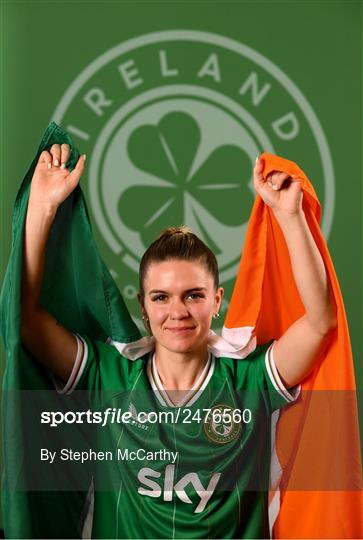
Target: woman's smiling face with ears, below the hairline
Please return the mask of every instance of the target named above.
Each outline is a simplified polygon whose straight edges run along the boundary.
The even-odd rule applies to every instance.
[[[144,291],[144,302],[140,296],[139,301],[158,346],[191,352],[206,345],[224,291],[222,287],[215,291],[203,264],[183,259],[152,263]]]

